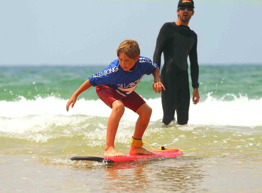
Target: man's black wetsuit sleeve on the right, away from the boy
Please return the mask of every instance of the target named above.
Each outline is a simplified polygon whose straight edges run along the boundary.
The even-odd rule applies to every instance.
[[[198,88],[198,76],[199,76],[199,66],[198,66],[198,61],[197,61],[197,36],[194,33],[194,45],[192,49],[189,52],[189,60],[190,60],[190,74],[191,74],[191,80],[192,80],[192,87],[193,88]]]

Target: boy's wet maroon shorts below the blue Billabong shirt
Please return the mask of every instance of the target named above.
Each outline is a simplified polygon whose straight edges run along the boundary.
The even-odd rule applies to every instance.
[[[115,100],[121,100],[124,103],[125,107],[136,112],[137,109],[145,103],[143,98],[141,98],[134,91],[126,97],[120,97],[113,88],[110,88],[106,85],[96,86],[96,93],[99,96],[99,98],[110,108]]]

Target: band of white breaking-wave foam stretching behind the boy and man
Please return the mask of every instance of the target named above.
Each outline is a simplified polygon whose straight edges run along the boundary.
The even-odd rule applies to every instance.
[[[163,116],[161,98],[145,99],[145,101],[153,110],[150,121],[161,119]],[[0,101],[0,117],[2,117],[0,119],[0,131],[14,132],[14,128],[22,130],[34,127],[37,132],[42,130],[41,127],[51,126],[52,124],[57,126],[70,123],[77,124],[79,120],[75,120],[76,118],[71,115],[108,117],[111,113],[111,109],[101,100],[79,98],[74,108],[69,107],[68,112],[65,107],[66,103],[67,100],[54,96],[38,97],[36,100],[26,100],[26,98],[21,97],[19,101]],[[233,101],[223,101],[208,96],[205,101],[201,101],[197,105],[190,104],[188,124],[261,126],[262,113],[260,109],[262,109],[262,98],[249,100],[247,97],[241,96],[235,97]],[[31,117],[30,115],[34,116]],[[137,118],[136,113],[126,108],[122,120],[136,121]],[[15,132],[19,133],[19,131]]]

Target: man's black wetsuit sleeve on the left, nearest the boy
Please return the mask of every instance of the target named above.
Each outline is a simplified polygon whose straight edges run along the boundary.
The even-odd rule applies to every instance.
[[[159,35],[156,40],[156,49],[153,56],[153,61],[159,66],[159,69],[161,66],[161,54],[164,50],[166,41],[168,40],[169,31],[170,28],[168,26],[168,23],[165,23],[160,29]]]

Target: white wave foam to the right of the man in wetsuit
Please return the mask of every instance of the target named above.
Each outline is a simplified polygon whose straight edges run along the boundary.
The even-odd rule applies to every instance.
[[[249,100],[246,96],[233,101],[214,99],[211,96],[197,105],[190,105],[189,124],[261,126],[262,98]]]

